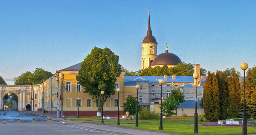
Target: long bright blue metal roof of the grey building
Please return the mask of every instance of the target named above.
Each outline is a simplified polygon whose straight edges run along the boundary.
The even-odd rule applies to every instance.
[[[144,80],[149,81],[150,83],[158,83],[158,79],[164,79],[164,76],[124,76],[124,82],[136,81],[138,78],[140,78],[140,81]],[[166,80],[164,79],[164,82],[193,83],[194,78],[193,76],[176,76],[172,79],[172,76],[167,76]],[[205,79],[201,82],[204,83]]]

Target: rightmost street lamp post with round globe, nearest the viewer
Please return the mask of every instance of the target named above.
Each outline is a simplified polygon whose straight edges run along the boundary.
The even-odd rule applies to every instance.
[[[242,135],[247,135],[247,115],[246,115],[246,102],[245,102],[245,70],[248,68],[247,63],[240,65],[241,69],[244,70],[244,113],[243,113],[243,132]]]

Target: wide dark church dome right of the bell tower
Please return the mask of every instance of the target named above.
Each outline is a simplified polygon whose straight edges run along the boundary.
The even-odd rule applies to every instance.
[[[165,53],[159,54],[154,59],[152,66],[160,66],[160,65],[177,65],[181,60],[175,54],[169,53],[166,47]]]

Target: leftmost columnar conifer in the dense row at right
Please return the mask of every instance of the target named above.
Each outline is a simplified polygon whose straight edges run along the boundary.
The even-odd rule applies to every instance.
[[[204,117],[209,121],[217,121],[220,117],[220,92],[218,79],[214,73],[208,71],[204,84]]]

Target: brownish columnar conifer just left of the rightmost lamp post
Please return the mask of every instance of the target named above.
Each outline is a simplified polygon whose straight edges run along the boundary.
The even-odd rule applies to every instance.
[[[225,72],[224,72],[225,73]],[[241,107],[241,87],[235,71],[228,77],[227,118],[237,118]]]

